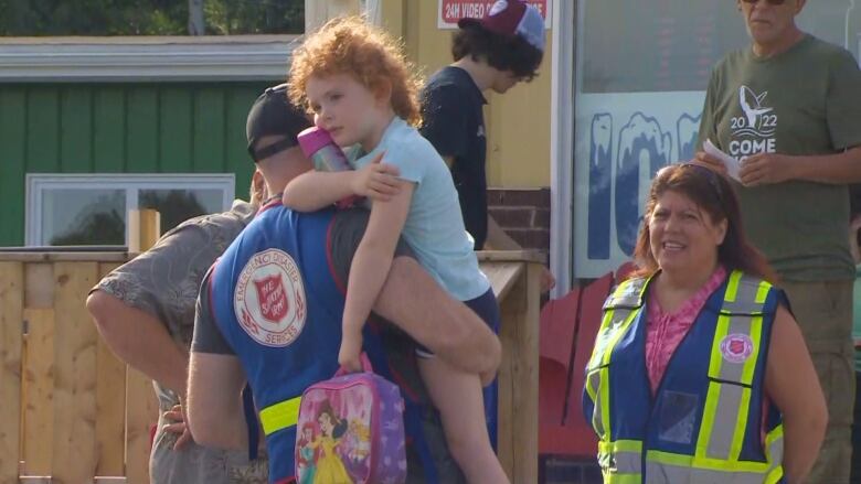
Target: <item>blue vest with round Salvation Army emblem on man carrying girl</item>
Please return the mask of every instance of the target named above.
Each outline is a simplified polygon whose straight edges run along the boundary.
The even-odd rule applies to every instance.
[[[259,410],[270,482],[294,475],[299,397],[338,369],[344,292],[329,260],[333,214],[265,207],[227,248],[210,279],[212,314],[242,362]],[[410,475],[418,474],[418,464],[425,482],[440,482],[442,475],[457,471],[437,467],[446,463],[437,460],[442,434],[425,438],[431,410],[410,386],[412,379],[391,367],[383,332],[366,324],[363,349],[374,372],[402,389]]]

